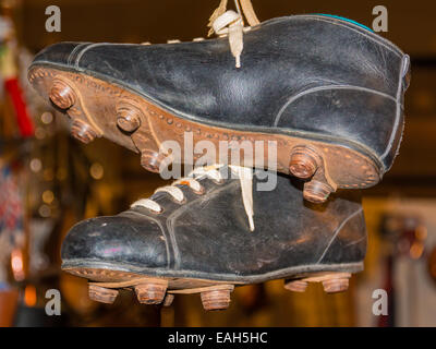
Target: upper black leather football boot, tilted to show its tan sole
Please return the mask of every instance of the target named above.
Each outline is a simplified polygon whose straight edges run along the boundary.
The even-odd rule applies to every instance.
[[[219,34],[234,32],[233,24],[222,29],[226,23]],[[409,57],[328,15],[278,17],[241,35],[240,68],[227,37],[61,43],[35,57],[28,79],[72,118],[76,137],[106,136],[141,152],[149,170],[165,156],[159,144],[174,140],[183,152],[184,132],[192,132],[194,144],[209,140],[217,148],[219,141],[277,142],[272,167],[312,178],[305,196],[313,202],[338,188],[376,184],[400,145]]]

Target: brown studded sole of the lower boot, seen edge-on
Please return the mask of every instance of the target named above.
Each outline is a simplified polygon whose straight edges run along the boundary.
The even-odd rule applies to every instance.
[[[72,266],[69,264],[81,266]],[[86,266],[85,266],[86,265]],[[123,266],[128,269],[128,266]],[[130,267],[134,269],[135,267]],[[193,277],[191,273],[168,270],[128,272],[106,263],[64,263],[62,269],[89,280],[89,298],[102,303],[113,303],[120,289],[132,290],[142,304],[171,305],[175,294],[199,293],[203,308],[207,311],[226,310],[230,305],[231,292],[235,286],[284,278],[284,288],[304,292],[310,282],[322,282],[327,293],[347,291],[353,273],[363,269],[363,262],[338,265],[308,265],[292,267],[277,273],[255,277],[231,277],[206,279]],[[160,274],[160,275],[159,275]],[[172,275],[171,275],[172,274]],[[186,277],[180,274],[185,274]],[[165,275],[165,276],[164,276]],[[214,276],[210,276],[214,278]]]

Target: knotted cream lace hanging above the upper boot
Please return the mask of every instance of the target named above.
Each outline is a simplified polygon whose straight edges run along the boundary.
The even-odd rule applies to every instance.
[[[211,33],[218,36],[228,36],[230,51],[235,59],[235,67],[241,68],[241,55],[244,49],[243,33],[251,29],[251,26],[259,24],[254,13],[251,0],[234,0],[238,13],[234,11],[226,11],[228,0],[221,0],[219,7],[214,11],[209,19],[208,26]],[[241,13],[244,13],[250,26],[244,27],[244,21]]]

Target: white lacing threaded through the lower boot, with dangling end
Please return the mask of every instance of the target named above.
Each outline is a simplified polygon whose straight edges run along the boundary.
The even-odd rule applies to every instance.
[[[177,184],[189,185],[194,192],[202,193],[203,186],[198,182],[202,178],[210,178],[217,182],[222,181],[223,178],[219,172],[219,168],[222,165],[214,165],[210,167],[198,167],[195,168],[186,178],[177,180],[171,185],[166,185],[158,188],[155,193],[165,192],[171,195],[178,203],[182,204],[184,202],[183,191],[175,186]],[[242,202],[244,204],[245,214],[249,218],[250,230],[254,231],[254,210],[253,210],[253,170],[246,167],[229,165],[229,168],[233,173],[235,173],[241,183],[241,194]],[[134,202],[131,207],[145,207],[153,212],[160,213],[162,207],[152,198],[141,198]]]

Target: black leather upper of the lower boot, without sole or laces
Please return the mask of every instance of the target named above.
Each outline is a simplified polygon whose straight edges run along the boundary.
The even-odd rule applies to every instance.
[[[274,191],[257,191],[255,176],[251,232],[240,181],[199,181],[203,195],[180,186],[183,204],[167,193],[155,194],[161,214],[137,207],[77,224],[62,244],[64,266],[102,262],[238,279],[305,265],[359,263],[365,256],[366,229],[356,191],[339,191],[326,204],[312,205],[288,177],[278,174]]]

